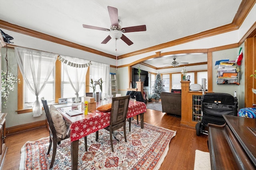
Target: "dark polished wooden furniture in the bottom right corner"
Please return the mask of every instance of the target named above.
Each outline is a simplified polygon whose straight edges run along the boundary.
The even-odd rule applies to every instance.
[[[212,170],[256,169],[256,119],[223,115],[225,125],[209,124]]]

